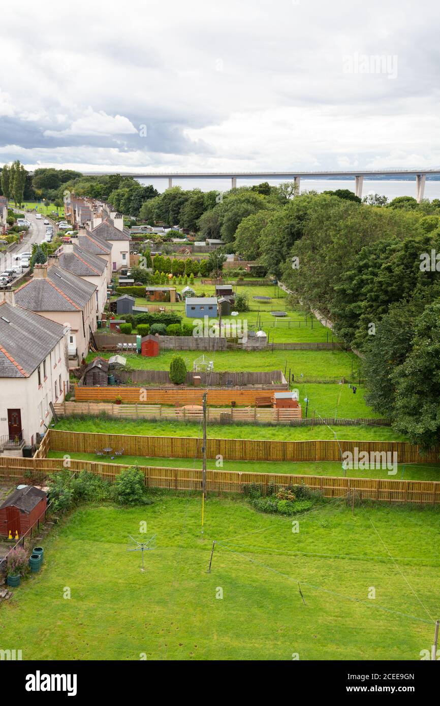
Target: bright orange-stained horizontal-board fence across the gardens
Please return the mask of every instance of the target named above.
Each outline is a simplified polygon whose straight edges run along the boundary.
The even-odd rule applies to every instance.
[[[241,405],[254,407],[258,397],[267,397],[271,400],[273,390],[264,388],[232,388],[224,390],[213,388],[208,390],[207,402],[213,407]],[[283,388],[280,387],[280,390]],[[201,405],[203,402],[203,388],[142,388],[121,385],[109,387],[86,387],[75,384],[74,394],[76,402],[114,402],[121,397],[122,402],[144,405]]]

